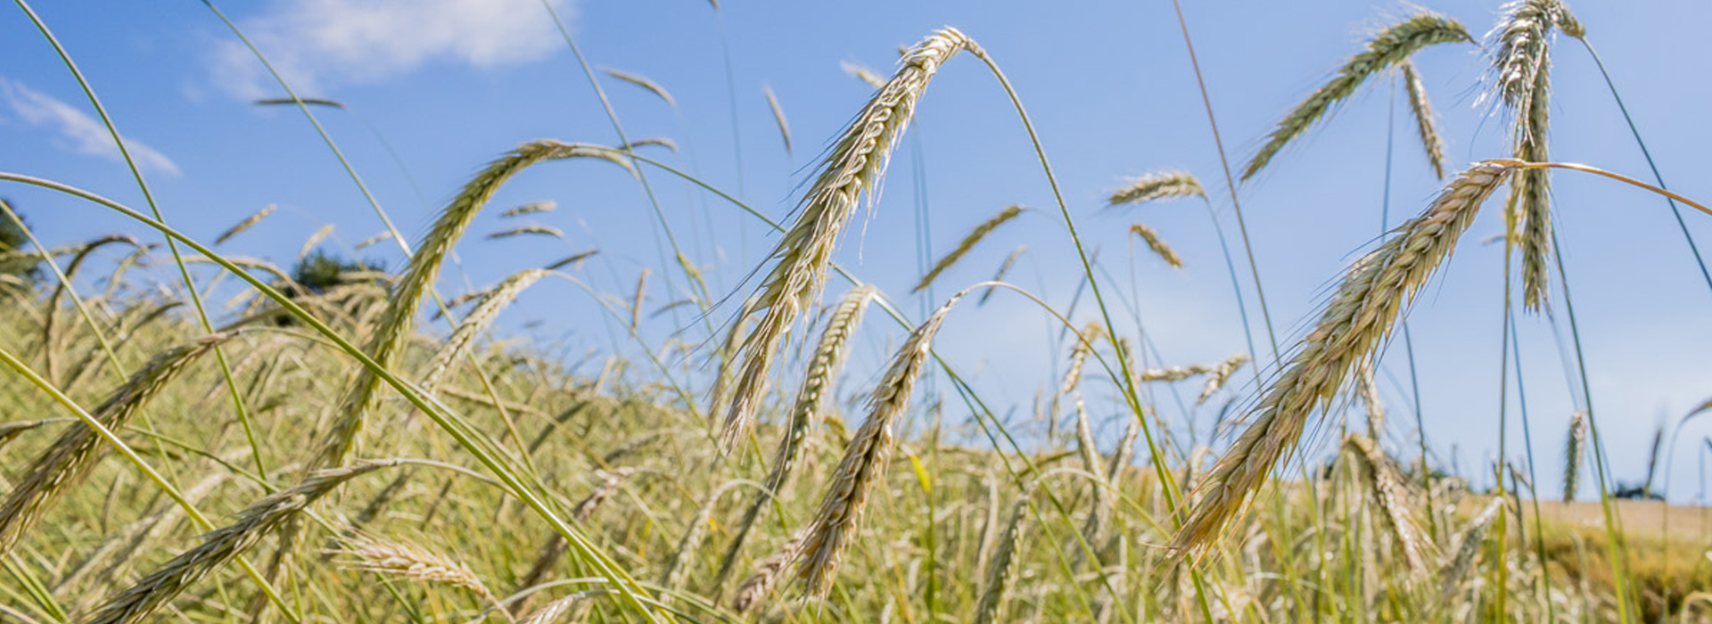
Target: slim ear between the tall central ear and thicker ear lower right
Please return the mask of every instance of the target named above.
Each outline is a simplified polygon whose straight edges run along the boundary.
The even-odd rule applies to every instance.
[[[798,458],[803,455],[803,441],[808,438],[808,426],[811,424],[815,414],[820,412],[827,397],[832,395],[832,383],[844,368],[844,359],[849,356],[849,340],[861,327],[863,311],[868,309],[868,303],[873,301],[880,291],[871,286],[858,286],[844,294],[839,306],[832,309],[832,316],[827,320],[827,327],[820,332],[820,342],[815,345],[815,356],[808,361],[808,371],[803,374],[803,385],[796,388],[796,400],[791,402],[789,419],[786,421],[784,436],[779,439],[779,448],[772,455],[772,472],[767,474],[765,487],[767,492],[750,503],[748,511],[743,513],[743,520],[738,521],[736,537],[726,549],[724,561],[719,564],[719,578],[724,578],[726,571],[736,561],[738,552],[743,549],[743,542],[748,537],[750,528],[760,518],[762,511],[767,509],[767,503],[777,497],[784,486],[791,479],[791,470],[796,467]]]

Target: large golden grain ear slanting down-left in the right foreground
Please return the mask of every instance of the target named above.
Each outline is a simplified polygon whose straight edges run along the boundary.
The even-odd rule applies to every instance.
[[[1219,458],[1174,544],[1209,544],[1267,474],[1296,446],[1308,417],[1323,409],[1351,371],[1390,335],[1402,309],[1455,250],[1481,203],[1510,166],[1477,162],[1457,174],[1419,217],[1351,267],[1313,332],[1251,409],[1251,424]]]

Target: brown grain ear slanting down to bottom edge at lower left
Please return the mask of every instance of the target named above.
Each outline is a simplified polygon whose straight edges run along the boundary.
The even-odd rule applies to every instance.
[[[180,592],[195,585],[211,571],[238,557],[269,533],[279,530],[312,503],[351,479],[368,472],[399,465],[397,460],[363,460],[341,468],[308,474],[296,487],[267,496],[238,511],[235,520],[202,535],[202,544],[173,557],[139,580],[130,588],[113,595],[101,607],[80,619],[82,624],[130,624],[149,617]]]

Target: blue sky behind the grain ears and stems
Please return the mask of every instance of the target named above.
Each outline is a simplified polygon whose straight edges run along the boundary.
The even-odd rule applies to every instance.
[[[1169,2],[729,0],[719,14],[695,0],[558,0],[556,7],[592,65],[647,75],[675,96],[671,108],[603,77],[632,138],[671,137],[683,147],[681,156],[657,149],[651,154],[776,217],[794,205],[796,185],[818,149],[870,94],[841,63],[885,74],[897,46],[938,26],[957,26],[981,41],[1020,91],[1085,243],[1101,251],[1115,279],[1108,289],[1138,299],[1164,362],[1210,362],[1246,349],[1202,205],[1101,209],[1103,197],[1126,176],[1183,169],[1207,183],[1226,233],[1236,231]],[[294,260],[324,224],[336,227],[324,243],[330,250],[348,250],[382,231],[298,111],[248,104],[281,96],[281,89],[202,3],[36,9],[128,137],[171,224],[211,241],[257,209],[277,203],[277,214],[223,251],[281,265]],[[349,111],[320,109],[318,118],[413,239],[476,168],[519,142],[616,144],[599,101],[538,2],[272,0],[221,9],[303,96],[349,104]],[[1498,14],[1495,2],[1435,2],[1430,9],[1476,34]],[[1712,125],[1705,123],[1712,85],[1697,79],[1712,70],[1712,56],[1697,44],[1712,5],[1582,2],[1572,9],[1601,48],[1664,178],[1688,197],[1712,198],[1712,181],[1698,174],[1703,145],[1712,144]],[[1190,2],[1185,10],[1233,166],[1364,34],[1406,14],[1406,7],[1373,2]],[[734,92],[728,91],[721,32],[729,44]],[[1554,157],[1644,176],[1645,162],[1589,55],[1577,41],[1560,38],[1553,62]],[[1436,46],[1421,53],[1418,65],[1452,166],[1503,156],[1503,120],[1479,104],[1484,56],[1474,46]],[[794,154],[782,147],[764,85],[774,89],[789,118]],[[1436,190],[1394,91],[1388,79],[1375,80],[1257,180],[1238,186],[1267,303],[1286,344],[1306,332],[1315,304],[1342,267],[1380,234],[1388,123],[1395,130],[1390,224],[1419,212]],[[22,12],[0,12],[0,169],[79,185],[140,207],[140,193],[94,123],[75,82]],[[774,239],[714,197],[659,171],[649,171],[649,180],[685,251],[709,267],[721,294],[734,292]],[[1032,210],[947,274],[936,296],[990,277],[1010,250],[1027,244],[1012,280],[1055,306],[1070,304],[1079,272],[1063,222],[1015,113],[974,58],[950,62],[935,79],[885,190],[877,210],[858,217],[839,253],[839,262],[863,279],[906,297],[919,275],[918,205],[924,203],[931,244],[943,251],[1002,207],[1020,203]],[[14,198],[53,243],[113,231],[147,234],[50,193],[0,188],[0,195]],[[1597,422],[1616,477],[1638,480],[1654,426],[1674,422],[1712,393],[1712,292],[1700,282],[1662,200],[1580,174],[1556,174],[1554,195]],[[532,221],[498,219],[498,209],[534,200],[556,200],[560,209]],[[1464,474],[1484,465],[1498,446],[1503,246],[1481,239],[1501,231],[1500,203],[1488,205],[1411,316],[1428,439],[1447,460],[1455,448]],[[645,197],[616,168],[548,164],[505,186],[493,207],[457,248],[461,265],[449,270],[442,291],[488,286],[520,268],[599,248],[597,260],[582,268],[599,289],[627,297],[637,274],[652,267],[649,308],[681,296],[666,289]],[[1712,246],[1712,217],[1685,217],[1702,244]],[[1186,267],[1171,270],[1133,253],[1123,234],[1135,221],[1156,227]],[[522,222],[555,226],[567,236],[484,239]],[[390,243],[360,255],[401,263]],[[681,275],[675,279],[681,287]],[[832,292],[841,289],[834,280]],[[1563,299],[1561,287],[1554,286],[1553,294]],[[906,308],[919,315],[926,304],[911,299]],[[1126,303],[1113,304],[1130,318]],[[1089,318],[1085,304],[1077,308],[1079,321]],[[1255,323],[1265,354],[1263,328],[1258,318]],[[897,340],[880,315],[866,327],[847,388],[871,383]],[[671,313],[649,321],[644,335],[657,345],[683,328],[685,338],[700,340],[698,321]],[[613,337],[621,335],[584,292],[563,284],[526,294],[508,311],[505,332],[572,354],[611,349]],[[972,374],[990,402],[1003,405],[1002,412],[1015,405],[1014,419],[1024,426],[1036,390],[1055,385],[1053,371],[1061,366],[1063,352],[1053,350],[1051,335],[1037,309],[996,296],[986,306],[959,309],[940,349]],[[1522,316],[1519,338],[1539,487],[1556,492],[1565,424],[1573,410],[1565,350],[1543,316]],[[1385,359],[1385,373],[1406,381],[1397,347]],[[1185,383],[1180,390],[1193,397],[1197,388]],[[1251,381],[1239,390],[1253,390]],[[1406,383],[1382,383],[1382,393],[1392,412],[1387,443],[1412,448]],[[1091,385],[1091,395],[1097,415],[1108,421],[1101,431],[1115,438],[1121,426],[1109,385]],[[1513,376],[1510,397],[1507,446],[1515,456],[1524,444]],[[1156,388],[1154,398],[1180,426],[1169,393]],[[1202,433],[1212,415],[1197,412]],[[1693,497],[1698,439],[1709,434],[1712,419],[1683,431],[1674,499]]]

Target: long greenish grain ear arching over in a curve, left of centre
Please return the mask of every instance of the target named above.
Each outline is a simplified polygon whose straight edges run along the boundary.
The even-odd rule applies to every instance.
[[[440,210],[440,217],[435,219],[428,234],[423,236],[421,244],[416,246],[409,267],[406,267],[404,275],[392,289],[387,308],[380,316],[380,325],[370,335],[366,352],[375,364],[380,368],[392,368],[395,364],[399,352],[409,338],[411,325],[416,320],[416,308],[421,306],[428,289],[440,275],[440,263],[452,251],[452,244],[469,229],[476,214],[488,205],[488,200],[493,198],[500,185],[536,162],[574,157],[609,161],[633,173],[630,162],[621,159],[618,152],[558,140],[532,140],[490,162]],[[317,451],[315,460],[310,462],[312,468],[337,465],[344,456],[351,455],[363,424],[368,421],[368,412],[378,400],[375,397],[378,386],[380,378],[372,369],[363,368],[358,371],[356,380],[344,393],[332,431],[322,443],[320,451]]]

